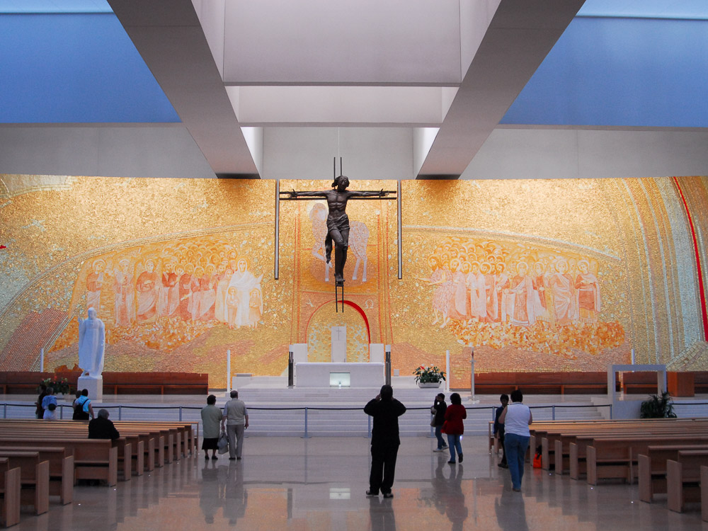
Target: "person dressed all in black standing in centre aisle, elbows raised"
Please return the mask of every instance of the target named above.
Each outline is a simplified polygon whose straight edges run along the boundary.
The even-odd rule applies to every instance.
[[[371,474],[367,496],[393,498],[391,487],[394,484],[396,455],[401,445],[398,418],[406,413],[406,406],[394,399],[394,390],[390,385],[382,385],[381,392],[375,399],[364,406],[364,413],[374,418],[371,432]]]

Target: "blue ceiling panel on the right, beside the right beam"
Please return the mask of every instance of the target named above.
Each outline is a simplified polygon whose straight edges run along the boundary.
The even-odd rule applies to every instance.
[[[501,123],[708,127],[708,21],[576,17]]]

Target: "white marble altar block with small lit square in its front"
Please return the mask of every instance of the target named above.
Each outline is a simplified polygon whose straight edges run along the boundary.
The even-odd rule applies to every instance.
[[[297,363],[295,375],[295,387],[338,387],[336,382],[342,382],[342,387],[377,388],[384,384],[384,364]],[[348,375],[348,386],[343,375]]]

